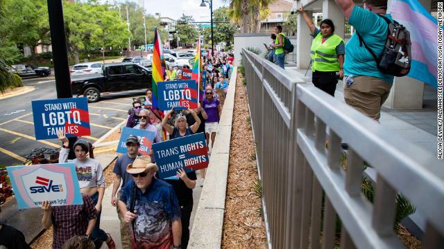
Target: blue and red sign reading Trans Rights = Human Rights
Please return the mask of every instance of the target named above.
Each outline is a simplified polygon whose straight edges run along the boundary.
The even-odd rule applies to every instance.
[[[161,179],[176,176],[180,168],[203,169],[209,159],[204,133],[175,138],[153,145],[155,163]]]

